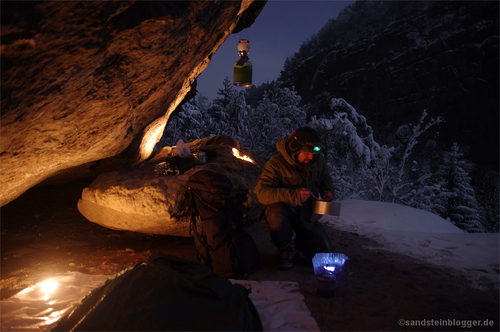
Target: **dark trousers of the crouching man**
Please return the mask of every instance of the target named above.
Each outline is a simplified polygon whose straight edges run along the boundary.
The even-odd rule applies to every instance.
[[[295,248],[305,257],[312,258],[317,253],[332,253],[333,247],[318,216],[312,214],[312,204],[304,203],[293,207],[285,203],[263,206],[264,218],[269,226],[272,243],[277,248],[285,248],[292,243],[295,232]]]

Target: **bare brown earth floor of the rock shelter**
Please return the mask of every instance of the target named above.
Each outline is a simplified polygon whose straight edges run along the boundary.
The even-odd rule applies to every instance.
[[[32,188],[0,209],[1,299],[55,273],[112,275],[163,252],[194,259],[191,238],[114,231],[87,221],[77,210],[81,190],[69,182]],[[399,320],[493,321],[467,331],[498,331],[498,290],[473,288],[459,271],[415,262],[354,233],[328,228],[336,252],[350,259],[347,285],[334,298],[317,297],[312,266],[274,267],[267,226],[246,225],[260,251],[262,269],[248,279],[297,282],[321,331],[460,331],[461,326],[400,326]],[[430,322],[428,322],[430,323]],[[430,323],[432,324],[432,323]],[[434,323],[435,324],[435,323]]]

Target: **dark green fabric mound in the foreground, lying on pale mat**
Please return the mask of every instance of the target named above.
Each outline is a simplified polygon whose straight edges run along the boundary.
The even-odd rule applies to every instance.
[[[250,290],[156,253],[109,277],[52,331],[262,331]]]

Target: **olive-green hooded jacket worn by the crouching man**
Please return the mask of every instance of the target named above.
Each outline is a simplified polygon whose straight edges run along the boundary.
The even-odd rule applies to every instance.
[[[262,205],[282,202],[291,206],[302,205],[300,188],[312,191],[317,197],[322,190],[334,194],[334,186],[322,154],[318,153],[309,166],[295,162],[285,148],[286,137],[276,143],[279,153],[269,159],[257,178],[253,193]]]

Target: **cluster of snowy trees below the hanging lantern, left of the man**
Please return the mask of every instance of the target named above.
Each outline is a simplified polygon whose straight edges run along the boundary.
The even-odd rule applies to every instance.
[[[300,96],[293,88],[278,88],[268,84],[257,107],[246,105],[243,90],[233,88],[226,77],[219,89],[219,97],[206,106],[206,98],[198,95],[172,116],[157,147],[174,145],[181,138],[185,142],[197,138],[229,135],[240,139],[264,159],[277,153],[276,142],[293,130],[305,125],[306,113],[299,106]]]

